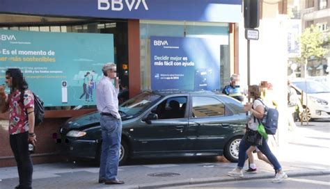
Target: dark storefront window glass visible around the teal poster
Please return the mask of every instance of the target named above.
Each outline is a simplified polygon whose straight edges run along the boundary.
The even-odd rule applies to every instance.
[[[0,30],[13,31],[40,31],[56,33],[112,33],[114,44],[114,60],[120,84],[128,88],[128,40],[127,21],[125,20],[99,20],[99,19],[76,19],[63,17],[40,17],[23,15],[0,14]],[[74,49],[72,49],[74,50]],[[123,65],[126,65],[123,67]],[[47,110],[69,110],[80,108],[95,108],[95,106],[52,106]]]

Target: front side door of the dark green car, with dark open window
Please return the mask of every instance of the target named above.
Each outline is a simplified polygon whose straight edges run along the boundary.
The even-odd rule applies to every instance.
[[[187,127],[189,123],[183,112],[185,111],[184,104],[187,104],[187,96],[169,97],[154,106],[150,113],[157,114],[158,119],[150,120],[149,123],[141,121],[140,126],[135,127],[134,135],[132,135],[134,138],[134,151],[184,150],[187,146]],[[146,116],[148,116],[148,113],[144,117]]]

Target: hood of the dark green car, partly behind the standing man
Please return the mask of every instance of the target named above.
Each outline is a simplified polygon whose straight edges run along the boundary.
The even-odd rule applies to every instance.
[[[81,127],[85,127],[85,126],[92,126],[92,125],[98,125],[100,124],[100,113],[95,111],[95,112],[91,112],[85,115],[79,115],[77,117],[72,117],[70,118],[67,122],[65,122],[64,126],[67,129],[79,129]],[[132,116],[127,117],[127,116],[123,116],[121,115],[121,119],[124,120],[128,120],[132,118]]]

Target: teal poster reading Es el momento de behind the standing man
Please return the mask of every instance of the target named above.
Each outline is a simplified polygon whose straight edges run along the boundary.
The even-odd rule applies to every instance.
[[[21,69],[45,106],[94,105],[102,66],[113,60],[112,34],[0,30],[0,83],[6,69]]]

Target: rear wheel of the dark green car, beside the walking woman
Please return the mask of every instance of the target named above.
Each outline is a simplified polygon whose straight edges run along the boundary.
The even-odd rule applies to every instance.
[[[242,136],[235,136],[230,139],[227,143],[223,155],[232,163],[238,162],[238,151],[239,151],[239,142],[241,142]]]

